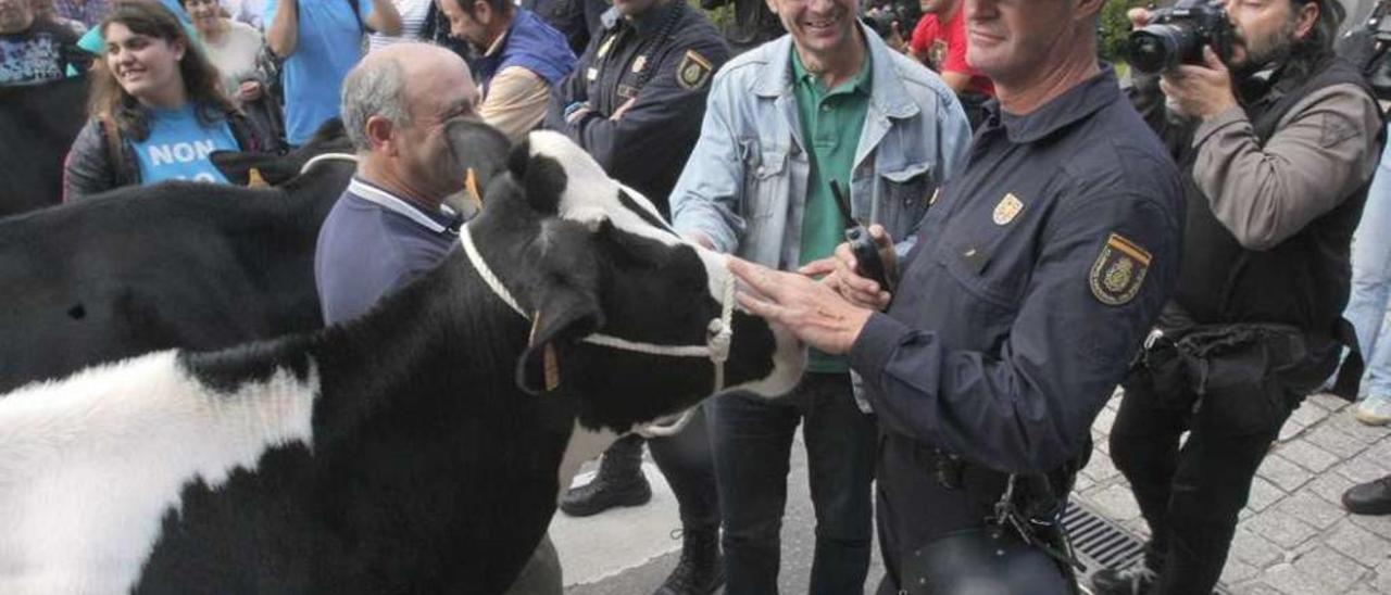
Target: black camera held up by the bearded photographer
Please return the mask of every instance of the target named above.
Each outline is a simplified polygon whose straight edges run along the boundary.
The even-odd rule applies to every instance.
[[[1129,64],[1138,72],[1202,64],[1203,46],[1212,46],[1223,63],[1231,60],[1234,33],[1223,7],[1209,0],[1180,0],[1150,14],[1149,25],[1132,31],[1125,44]]]

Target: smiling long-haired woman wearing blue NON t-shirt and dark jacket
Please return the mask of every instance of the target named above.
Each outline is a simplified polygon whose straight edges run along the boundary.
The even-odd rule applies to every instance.
[[[164,179],[225,182],[207,156],[259,150],[221,75],[168,8],[121,3],[97,26],[92,121],[68,152],[64,200]]]

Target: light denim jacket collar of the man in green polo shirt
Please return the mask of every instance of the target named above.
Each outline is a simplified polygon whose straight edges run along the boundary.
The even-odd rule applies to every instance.
[[[869,56],[869,106],[890,118],[910,118],[918,114],[918,104],[910,99],[899,72],[893,67],[893,50],[879,36],[857,22],[864,36]],[[761,97],[793,96],[791,33],[783,35],[762,47],[766,60],[759,67],[754,93]]]

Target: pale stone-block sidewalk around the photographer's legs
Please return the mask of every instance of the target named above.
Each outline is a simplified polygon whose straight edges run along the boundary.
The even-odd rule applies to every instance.
[[[1092,427],[1096,453],[1077,498],[1148,535],[1129,487],[1106,455],[1113,398]],[[1223,584],[1234,595],[1391,594],[1391,517],[1352,516],[1348,487],[1391,474],[1391,430],[1352,418],[1330,395],[1305,400],[1256,477]]]

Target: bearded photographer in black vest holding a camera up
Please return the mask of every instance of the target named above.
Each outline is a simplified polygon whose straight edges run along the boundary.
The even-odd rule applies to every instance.
[[[1178,288],[1110,437],[1153,538],[1143,563],[1097,573],[1099,594],[1212,592],[1270,443],[1356,341],[1340,314],[1381,118],[1360,72],[1334,57],[1342,7],[1225,10],[1225,64],[1205,47],[1199,64],[1132,89],[1187,174],[1188,221]]]

